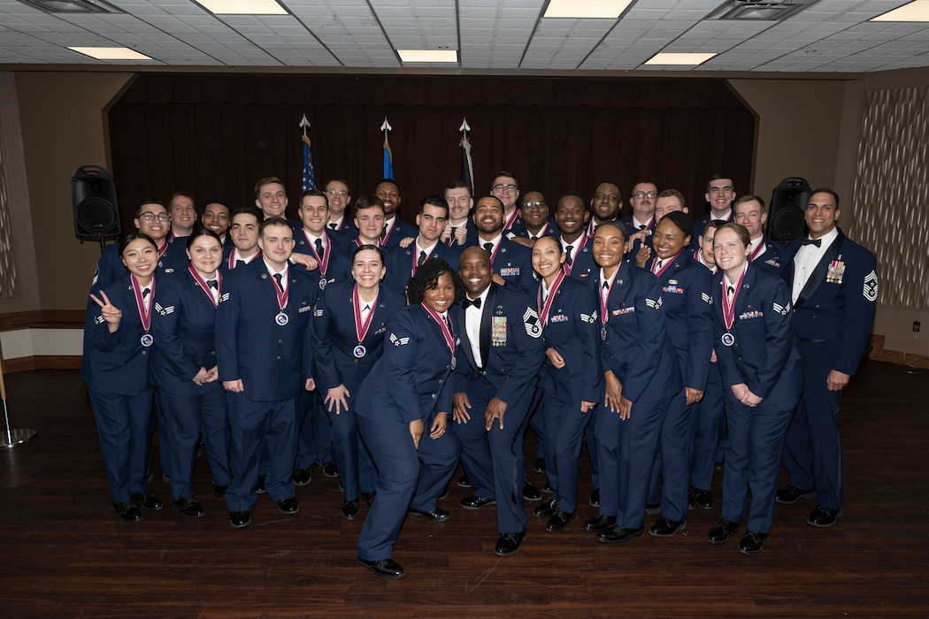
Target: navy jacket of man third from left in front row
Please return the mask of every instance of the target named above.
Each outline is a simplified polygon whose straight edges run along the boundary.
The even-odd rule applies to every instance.
[[[296,397],[312,378],[312,355],[304,335],[320,290],[302,266],[287,269],[290,298],[281,309],[274,280],[263,259],[229,271],[216,310],[219,380],[242,380],[242,395],[253,402]]]

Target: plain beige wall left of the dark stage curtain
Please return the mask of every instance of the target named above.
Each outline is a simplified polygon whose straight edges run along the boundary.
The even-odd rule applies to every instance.
[[[98,243],[74,237],[71,178],[82,165],[110,167],[104,110],[131,78],[131,73],[16,74],[33,226],[32,233],[18,231],[18,237],[34,239],[43,310],[85,307],[100,250]]]

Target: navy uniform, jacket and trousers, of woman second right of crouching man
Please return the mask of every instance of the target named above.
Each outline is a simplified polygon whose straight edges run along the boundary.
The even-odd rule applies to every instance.
[[[596,290],[603,290],[604,283],[601,271]],[[603,369],[612,370],[622,383],[622,397],[633,406],[625,420],[609,406],[598,406],[595,412],[600,514],[615,517],[624,530],[641,531],[661,422],[683,383],[655,276],[622,261],[609,287],[605,317]]]

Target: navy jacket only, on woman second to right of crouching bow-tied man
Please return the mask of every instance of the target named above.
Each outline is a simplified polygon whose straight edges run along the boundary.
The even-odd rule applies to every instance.
[[[595,290],[602,285],[597,274]],[[622,397],[634,404],[672,397],[683,387],[663,305],[658,279],[621,262],[609,289],[607,340],[601,350],[603,370],[613,370]]]

